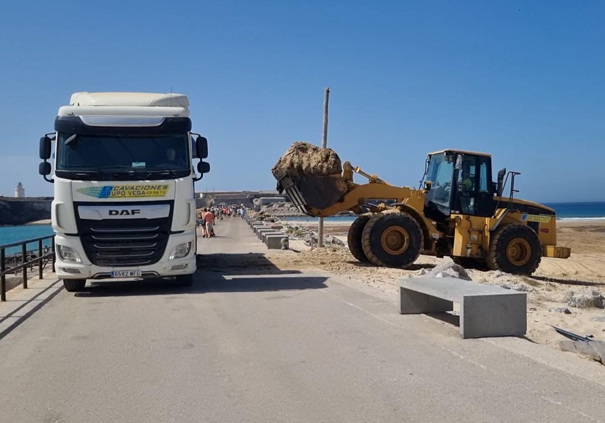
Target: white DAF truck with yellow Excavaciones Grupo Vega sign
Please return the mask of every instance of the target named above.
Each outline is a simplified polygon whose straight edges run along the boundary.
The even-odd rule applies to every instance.
[[[40,139],[39,172],[54,183],[56,272],[65,289],[103,278],[190,285],[194,182],[210,170],[206,157],[208,140],[191,132],[182,94],[73,94],[54,132]]]

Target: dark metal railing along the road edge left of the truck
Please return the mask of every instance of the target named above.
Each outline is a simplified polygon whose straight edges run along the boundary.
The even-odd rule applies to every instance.
[[[44,240],[51,240],[50,247],[44,246]],[[38,244],[38,249],[27,249],[27,244]],[[21,252],[8,255],[6,250],[8,248],[15,248],[21,246]],[[36,255],[37,252],[37,255]],[[50,262],[52,271],[54,272],[54,235],[47,235],[45,237],[31,238],[29,240],[17,241],[10,244],[0,245],[0,301],[6,301],[6,275],[8,274],[19,274],[21,272],[21,278],[23,287],[27,288],[27,271],[28,267],[33,272],[34,264],[38,264],[38,278],[42,279],[42,272],[44,267]],[[8,264],[13,266],[8,267]]]

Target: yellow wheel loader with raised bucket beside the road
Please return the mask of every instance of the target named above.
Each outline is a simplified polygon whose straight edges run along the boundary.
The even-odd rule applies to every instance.
[[[502,169],[492,182],[489,154],[431,152],[419,189],[390,185],[349,162],[342,169],[336,175],[275,177],[304,214],[359,214],[348,232],[348,247],[359,261],[408,267],[420,254],[450,256],[464,267],[531,275],[541,257],[571,254],[557,246],[553,209],[514,198],[518,172]],[[354,183],[354,173],[368,182]]]

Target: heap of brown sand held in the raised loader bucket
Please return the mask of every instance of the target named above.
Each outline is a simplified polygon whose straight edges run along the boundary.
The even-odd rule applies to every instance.
[[[276,179],[289,176],[293,180],[299,180],[306,176],[341,174],[342,163],[333,149],[298,141],[280,157],[271,172]]]

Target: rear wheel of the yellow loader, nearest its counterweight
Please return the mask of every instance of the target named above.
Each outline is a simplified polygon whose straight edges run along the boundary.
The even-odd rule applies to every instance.
[[[495,232],[486,261],[492,270],[531,275],[541,260],[542,246],[538,235],[528,226],[513,224]]]

